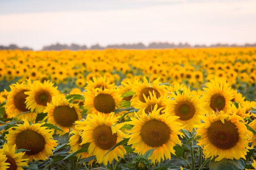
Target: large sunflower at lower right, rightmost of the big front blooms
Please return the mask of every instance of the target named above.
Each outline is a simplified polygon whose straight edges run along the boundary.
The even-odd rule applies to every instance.
[[[246,159],[247,149],[252,148],[248,146],[249,137],[242,117],[220,111],[218,116],[212,114],[201,118],[204,123],[195,127],[198,128],[196,135],[200,136],[197,145],[203,148],[205,159]]]

